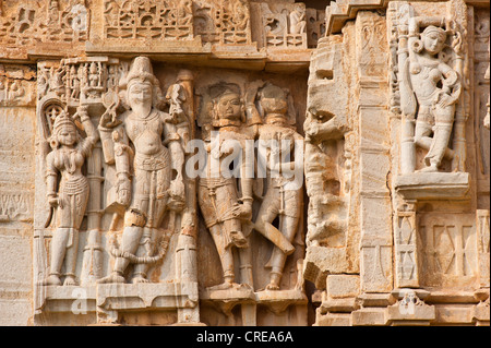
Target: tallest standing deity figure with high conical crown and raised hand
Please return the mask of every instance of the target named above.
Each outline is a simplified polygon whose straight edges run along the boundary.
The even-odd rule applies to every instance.
[[[182,146],[172,117],[158,109],[164,96],[148,58],[134,59],[121,87],[128,110],[116,119],[103,115],[99,122],[106,163],[116,165],[117,201],[125,208],[113,269],[103,284],[125,283],[130,264],[132,283],[147,283],[149,265],[164,257],[157,243],[164,217],[184,205]]]

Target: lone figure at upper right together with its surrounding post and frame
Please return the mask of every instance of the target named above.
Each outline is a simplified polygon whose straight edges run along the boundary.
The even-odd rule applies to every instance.
[[[403,12],[398,25],[399,91],[405,121],[403,173],[416,168],[412,136],[414,144],[428,151],[426,167],[420,171],[441,171],[442,160],[455,157],[455,151],[450,148],[451,134],[456,117],[459,118],[456,113],[464,112],[462,107],[457,109],[462,103],[465,59],[462,27],[445,17],[415,16],[410,5],[402,7],[399,12]]]

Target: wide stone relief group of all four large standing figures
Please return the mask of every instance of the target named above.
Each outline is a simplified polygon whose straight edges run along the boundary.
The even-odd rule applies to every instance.
[[[290,173],[296,156],[302,173],[294,99],[288,89],[268,82],[246,83],[233,74],[231,81],[202,79],[195,111],[193,72],[163,75],[159,68],[154,73],[146,57],[39,64],[39,154],[46,173],[40,191],[51,205],[35,221],[39,317],[50,303],[70,301],[63,288],[77,285],[93,291],[99,323],[130,320],[128,311],[141,308],[139,301],[177,311],[178,323],[207,321],[209,310],[205,307],[200,319],[196,302],[197,209],[209,233],[200,240],[212,241],[219,255],[209,271],[223,269],[221,283],[200,290],[204,303],[224,320],[239,304],[244,324],[256,323],[256,307],[279,314],[291,304],[304,305],[301,263],[296,264],[301,250],[295,247],[301,238],[303,176],[272,177]],[[192,127],[195,115],[199,129]],[[196,177],[185,166],[195,155],[190,142],[200,137],[207,144],[207,165]],[[241,158],[246,151],[230,157],[233,146],[247,149],[248,141],[253,155],[254,141],[266,144],[261,178],[254,157],[252,165],[250,157]],[[290,163],[275,167],[278,155]],[[240,179],[214,172],[224,167],[221,158],[242,164],[236,170]],[[253,260],[253,248],[271,251],[266,267]],[[169,292],[169,281],[180,290]],[[274,290],[284,300],[278,302]]]

